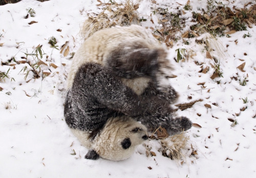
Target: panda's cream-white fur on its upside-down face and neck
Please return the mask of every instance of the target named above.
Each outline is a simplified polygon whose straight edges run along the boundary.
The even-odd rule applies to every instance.
[[[134,132],[135,128],[139,130]],[[145,141],[143,136],[146,136],[146,127],[126,116],[110,118],[93,140],[90,139],[89,132],[71,130],[83,146],[95,150],[101,158],[112,161],[129,158],[136,146]],[[131,140],[131,146],[124,149],[121,142],[126,138]]]

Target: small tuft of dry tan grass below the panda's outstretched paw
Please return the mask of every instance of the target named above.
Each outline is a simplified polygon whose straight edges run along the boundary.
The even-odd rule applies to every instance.
[[[185,158],[184,152],[187,151],[188,140],[189,136],[186,136],[185,132],[161,140],[162,154],[172,160]]]

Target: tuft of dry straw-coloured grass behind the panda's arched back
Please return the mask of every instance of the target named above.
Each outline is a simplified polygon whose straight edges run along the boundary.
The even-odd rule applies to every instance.
[[[100,1],[98,1],[100,2]],[[113,26],[130,26],[139,24],[139,4],[132,0],[125,0],[121,4],[101,3],[102,12],[99,14],[88,14],[89,18],[83,23],[80,34],[86,40],[96,31]]]

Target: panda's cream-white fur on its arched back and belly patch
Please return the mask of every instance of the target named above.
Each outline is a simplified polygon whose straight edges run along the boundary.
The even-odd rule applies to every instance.
[[[105,64],[106,58],[113,49],[119,49],[125,44],[124,48],[131,48],[135,44],[140,44],[144,48],[156,49],[160,51],[158,56],[159,63],[165,63],[163,68],[171,68],[166,59],[166,50],[146,29],[132,25],[130,27],[112,27],[97,31],[89,39],[84,41],[72,60],[71,68],[67,79],[67,90],[72,87],[74,77],[79,67],[86,62]],[[159,73],[161,74],[161,73]],[[164,80],[164,77],[160,77]],[[160,79],[159,79],[160,80]],[[132,80],[123,79],[124,84],[133,88],[137,94],[141,94],[147,86],[148,78],[141,77]]]

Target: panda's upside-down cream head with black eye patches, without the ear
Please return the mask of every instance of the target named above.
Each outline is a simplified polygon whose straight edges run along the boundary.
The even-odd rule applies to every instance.
[[[130,117],[110,118],[95,138],[94,149],[101,158],[125,160],[147,138],[146,127]]]

